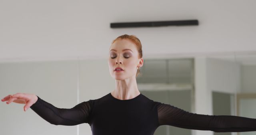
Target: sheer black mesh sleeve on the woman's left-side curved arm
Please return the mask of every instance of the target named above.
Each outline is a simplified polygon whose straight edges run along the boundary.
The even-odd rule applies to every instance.
[[[57,108],[40,97],[30,107],[40,117],[54,125],[78,125],[89,123],[92,100],[84,101],[71,109]]]

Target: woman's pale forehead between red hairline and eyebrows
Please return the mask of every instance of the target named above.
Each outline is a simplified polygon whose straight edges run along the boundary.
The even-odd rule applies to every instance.
[[[132,52],[136,52],[136,45],[127,39],[116,40],[111,46],[110,50],[116,50],[122,52],[124,49],[130,49]]]

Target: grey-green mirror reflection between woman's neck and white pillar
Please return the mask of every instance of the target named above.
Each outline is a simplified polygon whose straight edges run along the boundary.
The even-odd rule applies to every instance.
[[[149,99],[192,111],[194,103],[194,60],[144,60],[142,76],[137,78],[140,92]],[[191,135],[190,129],[170,125],[158,127],[154,135]]]

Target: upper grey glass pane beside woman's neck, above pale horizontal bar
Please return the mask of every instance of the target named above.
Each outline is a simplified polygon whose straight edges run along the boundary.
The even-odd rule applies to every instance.
[[[138,83],[193,83],[193,59],[144,60]]]

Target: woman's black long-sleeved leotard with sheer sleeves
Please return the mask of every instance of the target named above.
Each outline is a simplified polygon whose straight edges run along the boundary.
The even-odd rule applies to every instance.
[[[160,125],[215,132],[256,131],[256,119],[190,113],[141,93],[128,100],[116,99],[109,93],[71,109],[57,108],[38,97],[30,108],[54,125],[88,123],[93,135],[153,135]]]

